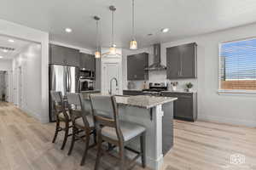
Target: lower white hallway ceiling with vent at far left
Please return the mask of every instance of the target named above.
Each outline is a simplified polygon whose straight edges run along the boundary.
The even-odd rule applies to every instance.
[[[13,40],[14,42],[9,42],[9,40]],[[15,56],[30,43],[31,42],[26,42],[13,37],[0,36],[0,47],[15,48],[14,51],[9,50],[7,53],[3,52],[3,49],[0,49],[0,56],[3,57],[2,59],[14,59]]]

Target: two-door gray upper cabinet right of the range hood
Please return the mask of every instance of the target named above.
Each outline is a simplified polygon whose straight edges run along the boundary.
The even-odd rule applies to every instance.
[[[197,45],[195,42],[166,48],[167,78],[196,78]]]

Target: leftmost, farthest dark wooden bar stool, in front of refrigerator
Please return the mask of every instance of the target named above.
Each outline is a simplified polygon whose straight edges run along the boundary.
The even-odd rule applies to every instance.
[[[54,103],[54,111],[56,116],[55,136],[52,143],[55,143],[58,133],[64,131],[65,135],[61,145],[61,150],[63,150],[67,143],[67,137],[71,136],[71,134],[68,134],[69,128],[72,127],[70,126],[71,119],[67,109],[65,108],[61,92],[50,91],[50,95]],[[65,127],[60,126],[61,122],[64,122]]]

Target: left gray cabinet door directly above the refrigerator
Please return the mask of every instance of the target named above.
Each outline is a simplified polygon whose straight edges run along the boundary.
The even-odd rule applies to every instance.
[[[65,62],[65,48],[50,44],[50,64],[52,65],[66,65]]]

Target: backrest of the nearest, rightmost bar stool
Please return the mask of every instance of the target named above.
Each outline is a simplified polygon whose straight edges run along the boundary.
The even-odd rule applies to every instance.
[[[119,127],[119,111],[113,96],[90,95],[92,114],[96,122],[96,128],[114,127],[118,139],[124,141]]]

